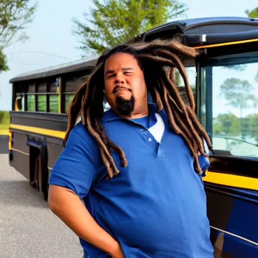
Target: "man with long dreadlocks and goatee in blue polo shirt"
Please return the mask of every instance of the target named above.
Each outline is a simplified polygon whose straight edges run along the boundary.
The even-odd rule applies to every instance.
[[[196,55],[176,41],[119,45],[78,89],[48,204],[80,237],[85,258],[213,257],[203,139],[212,148],[181,62]]]

